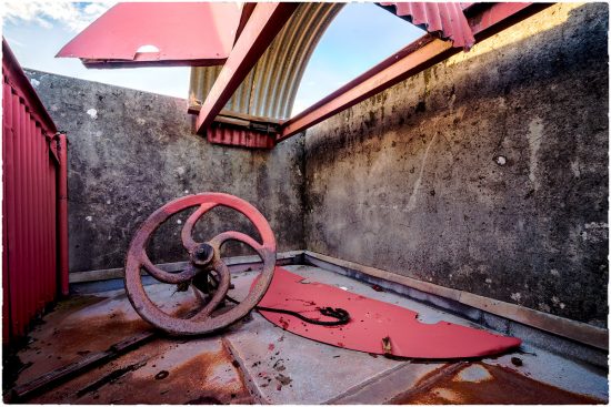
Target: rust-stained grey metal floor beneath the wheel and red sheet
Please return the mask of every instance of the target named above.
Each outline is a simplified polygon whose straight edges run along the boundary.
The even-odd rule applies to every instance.
[[[478,325],[409,298],[314,266],[289,271],[417,311],[422,322]],[[257,273],[232,274],[243,298]],[[192,297],[148,286],[168,312]],[[60,303],[18,355],[17,385],[78,360],[150,326],[122,291]],[[33,404],[598,404],[608,400],[607,373],[523,345],[520,352],[469,362],[397,360],[315,343],[258,313],[223,334],[159,336],[140,348],[27,400]]]

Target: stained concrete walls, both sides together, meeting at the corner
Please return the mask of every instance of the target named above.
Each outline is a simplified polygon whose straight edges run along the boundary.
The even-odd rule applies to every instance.
[[[70,139],[70,269],[121,267],[157,207],[221,191],[261,210],[280,251],[605,326],[608,14],[552,6],[271,152],[193,135],[184,100],[28,71]],[[186,258],[186,217],[153,261]],[[200,240],[252,232],[206,221]]]

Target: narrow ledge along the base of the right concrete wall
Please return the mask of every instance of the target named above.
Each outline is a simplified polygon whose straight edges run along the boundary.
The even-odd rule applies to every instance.
[[[472,311],[481,311],[493,315],[501,316],[503,318],[518,322],[520,324],[531,326],[541,330],[552,333],[554,335],[562,336],[585,345],[593,346],[599,349],[609,349],[609,330],[599,328],[592,325],[583,324],[577,320],[562,318],[555,315],[545,314],[535,309],[527,308],[520,305],[505,303],[498,299],[492,299],[475,295],[472,293],[462,292],[454,288],[448,288],[432,283],[422,282],[420,279],[405,277],[394,273],[385,272],[383,269],[364,266],[361,264],[343,261],[340,258],[327,256],[324,254],[314,253],[310,251],[303,252],[306,262],[310,264],[338,271],[347,274],[360,273],[362,275],[380,278],[392,283],[400,284],[402,286],[413,288],[421,293],[432,294],[438,296],[437,298],[423,298],[418,293],[408,293],[415,299],[425,299],[442,308],[452,309],[457,312],[455,307],[445,304],[444,299],[450,299],[460,305],[475,308],[475,309],[459,309],[459,313],[465,315],[470,319],[481,319],[481,314],[473,313]],[[335,266],[334,268],[332,266]],[[359,278],[358,275],[355,275]],[[361,278],[362,279],[362,276]],[[441,298],[439,298],[441,297]],[[469,315],[471,314],[471,315]]]

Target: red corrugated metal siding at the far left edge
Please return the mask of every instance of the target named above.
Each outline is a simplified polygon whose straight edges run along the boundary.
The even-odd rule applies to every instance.
[[[58,295],[57,129],[2,43],[2,337],[22,336]]]

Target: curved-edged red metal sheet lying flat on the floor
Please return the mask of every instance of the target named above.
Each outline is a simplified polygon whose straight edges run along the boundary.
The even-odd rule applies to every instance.
[[[304,281],[282,267],[276,267],[272,283],[260,306],[298,312],[307,317],[321,316],[317,307],[331,306],[350,313],[343,326],[308,324],[296,316],[261,312],[266,319],[297,335],[329,345],[384,354],[382,338],[389,337],[393,356],[447,359],[499,354],[521,344],[519,338],[495,335],[447,322],[424,324],[418,313],[393,304],[364,297],[341,288]]]

